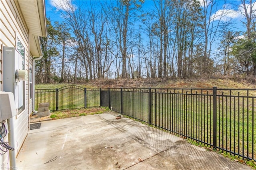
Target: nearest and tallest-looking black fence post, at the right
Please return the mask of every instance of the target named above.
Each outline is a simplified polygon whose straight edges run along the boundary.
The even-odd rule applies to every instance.
[[[216,148],[216,141],[217,141],[217,87],[213,87],[212,95],[213,95],[213,148]]]

